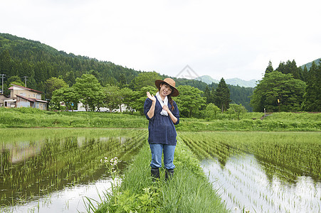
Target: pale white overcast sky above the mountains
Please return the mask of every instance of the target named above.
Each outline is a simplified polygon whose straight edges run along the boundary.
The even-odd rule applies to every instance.
[[[0,32],[172,77],[259,80],[269,60],[321,58],[320,10],[320,0],[1,0]]]

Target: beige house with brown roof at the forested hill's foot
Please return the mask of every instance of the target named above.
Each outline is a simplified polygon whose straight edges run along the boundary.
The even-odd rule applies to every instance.
[[[48,102],[41,100],[42,92],[16,84],[11,85],[12,87],[9,88],[9,90],[11,90],[10,97],[3,99],[3,107],[47,109]]]

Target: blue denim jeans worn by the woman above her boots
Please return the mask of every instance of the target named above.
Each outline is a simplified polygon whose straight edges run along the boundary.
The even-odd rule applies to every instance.
[[[150,151],[152,152],[152,162],[150,166],[152,168],[161,168],[162,167],[162,153],[164,152],[164,166],[168,170],[174,169],[175,165],[173,164],[174,160],[174,145],[166,145],[159,143],[149,143]]]

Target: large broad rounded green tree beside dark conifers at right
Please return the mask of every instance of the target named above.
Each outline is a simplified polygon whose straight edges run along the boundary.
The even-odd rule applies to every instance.
[[[305,82],[292,74],[278,71],[267,73],[251,96],[254,111],[298,111],[302,104]]]

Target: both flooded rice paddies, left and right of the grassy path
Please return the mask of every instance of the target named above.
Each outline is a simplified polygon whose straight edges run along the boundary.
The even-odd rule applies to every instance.
[[[148,132],[0,129],[0,135],[0,212],[75,212],[81,197],[99,200],[110,185],[100,159],[117,156],[121,172]],[[231,212],[321,212],[320,132],[179,131],[178,140],[198,156]]]

